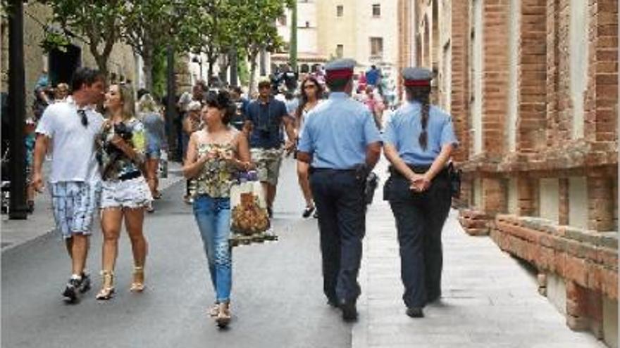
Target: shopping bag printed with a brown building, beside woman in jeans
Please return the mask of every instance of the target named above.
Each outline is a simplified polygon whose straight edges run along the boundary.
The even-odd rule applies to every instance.
[[[259,181],[241,181],[230,188],[230,245],[248,245],[277,240],[271,222],[263,187]]]

